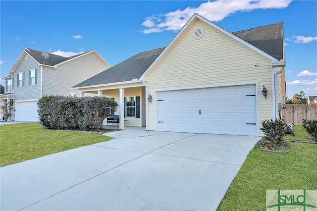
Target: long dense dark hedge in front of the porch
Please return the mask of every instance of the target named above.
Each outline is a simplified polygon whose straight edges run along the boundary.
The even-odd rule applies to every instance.
[[[104,97],[43,96],[38,102],[40,123],[59,130],[101,130],[104,119],[117,108]]]

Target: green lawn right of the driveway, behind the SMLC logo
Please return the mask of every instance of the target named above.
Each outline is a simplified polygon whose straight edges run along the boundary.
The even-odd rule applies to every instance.
[[[266,190],[317,189],[317,145],[289,143],[287,154],[254,148],[218,211],[265,211]]]

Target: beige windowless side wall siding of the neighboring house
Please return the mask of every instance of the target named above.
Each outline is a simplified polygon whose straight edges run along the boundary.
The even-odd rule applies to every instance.
[[[88,53],[57,66],[57,68],[43,67],[42,95],[64,95],[78,90],[71,88],[88,78],[106,70],[107,65],[95,54]]]

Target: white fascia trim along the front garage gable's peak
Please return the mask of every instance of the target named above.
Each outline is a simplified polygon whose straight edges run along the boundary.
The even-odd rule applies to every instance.
[[[257,47],[251,45],[250,43],[248,43],[247,41],[239,38],[238,36],[232,34],[231,32],[221,28],[220,26],[216,25],[215,23],[211,22],[210,20],[204,18],[203,16],[195,13],[188,21],[187,23],[183,26],[183,28],[177,33],[177,35],[172,39],[172,41],[166,46],[166,48],[159,54],[159,56],[154,60],[154,62],[148,67],[148,69],[142,74],[142,76],[140,77],[140,79],[143,79],[144,76],[149,74],[149,71],[151,71],[151,69],[156,65],[156,63],[160,60],[160,58],[167,52],[169,51],[169,49],[171,48],[171,46],[173,46],[173,43],[176,42],[178,40],[178,38],[181,36],[181,34],[187,29],[187,27],[189,25],[192,24],[193,21],[195,21],[196,19],[200,19],[201,21],[205,22],[207,25],[210,25],[211,27],[213,27],[214,29],[218,30],[219,32],[225,34],[226,36],[232,38],[233,40],[237,41],[238,43],[240,43],[241,45],[249,48],[250,50],[259,53],[260,55],[264,56],[265,58],[267,58],[268,60],[270,60],[272,63],[278,63],[279,60],[273,56],[271,56],[268,53],[265,53],[264,51],[258,49]]]

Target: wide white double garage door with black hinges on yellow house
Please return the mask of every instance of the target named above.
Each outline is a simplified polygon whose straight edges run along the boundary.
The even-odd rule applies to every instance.
[[[255,85],[158,93],[158,130],[257,136]]]

